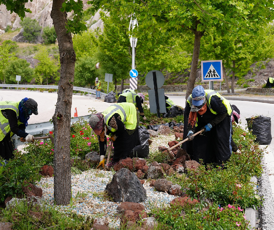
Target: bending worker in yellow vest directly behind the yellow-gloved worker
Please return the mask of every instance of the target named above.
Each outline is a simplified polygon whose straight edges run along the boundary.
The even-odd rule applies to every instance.
[[[142,104],[144,103],[145,96],[143,93],[124,92],[119,94],[117,103],[128,102],[133,103],[140,113],[140,116],[146,120]]]

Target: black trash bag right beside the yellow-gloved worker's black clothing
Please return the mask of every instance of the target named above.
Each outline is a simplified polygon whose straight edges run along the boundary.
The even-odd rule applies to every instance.
[[[138,134],[140,144],[134,147],[134,149],[130,153],[130,157],[147,158],[149,155],[149,132],[144,126],[139,126]]]

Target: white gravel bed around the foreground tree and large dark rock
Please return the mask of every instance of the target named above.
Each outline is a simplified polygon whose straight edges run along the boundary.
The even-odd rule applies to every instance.
[[[91,169],[71,176],[72,203],[69,206],[55,206],[60,211],[71,211],[81,215],[93,217],[104,216],[110,223],[110,227],[119,228],[120,219],[117,216],[116,208],[119,203],[107,201],[103,198],[103,192],[106,185],[112,180],[114,172]],[[53,206],[53,178],[42,178],[38,187],[43,189],[42,199],[49,205]],[[151,205],[162,207],[169,205],[176,196],[167,193],[154,191],[149,183],[144,184],[147,193],[147,200],[142,202],[145,211],[149,212]],[[77,197],[78,193],[78,197]],[[86,195],[79,198],[79,193]],[[77,197],[77,198],[76,198]]]

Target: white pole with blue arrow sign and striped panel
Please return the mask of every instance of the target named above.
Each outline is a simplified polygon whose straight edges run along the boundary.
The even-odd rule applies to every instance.
[[[129,23],[129,31],[132,29],[135,28],[135,26],[138,27],[138,22],[137,22],[137,19],[133,19],[131,18],[130,19],[130,23]],[[135,70],[135,47],[137,45],[137,38],[133,38],[132,36],[129,38],[129,41],[130,41],[130,46],[132,47],[132,65],[131,65],[131,69],[132,70]],[[130,76],[131,76],[131,79],[130,79],[130,89],[131,90],[137,90],[137,76],[132,76],[131,75],[131,71],[130,70]],[[137,70],[136,70],[137,71]],[[137,74],[138,75],[138,74]],[[136,79],[135,79],[136,78]]]

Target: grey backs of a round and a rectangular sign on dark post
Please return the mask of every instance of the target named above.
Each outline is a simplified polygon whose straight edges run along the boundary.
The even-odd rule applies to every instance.
[[[160,71],[152,70],[147,73],[145,82],[153,89],[148,91],[150,113],[160,117],[161,113],[166,113],[164,89],[160,89],[164,83],[164,76]]]

